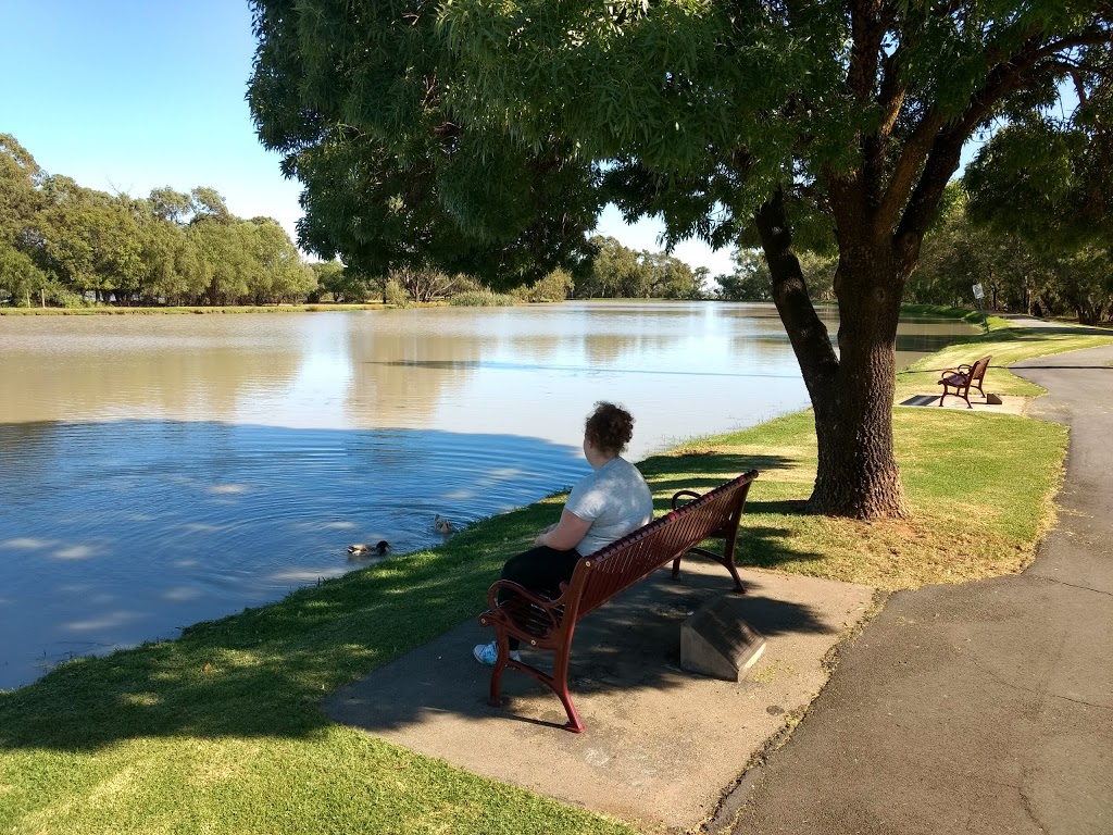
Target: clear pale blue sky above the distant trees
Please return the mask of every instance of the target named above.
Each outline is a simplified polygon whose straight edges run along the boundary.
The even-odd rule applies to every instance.
[[[0,132],[82,186],[146,196],[216,188],[240,217],[267,215],[292,236],[301,185],[259,145],[244,100],[255,39],[242,0],[0,0]],[[661,225],[599,232],[659,248]],[[730,254],[699,242],[676,253],[712,275]]]

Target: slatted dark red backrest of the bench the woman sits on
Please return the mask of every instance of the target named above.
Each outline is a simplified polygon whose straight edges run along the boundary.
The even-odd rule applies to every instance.
[[[574,617],[598,609],[708,537],[737,537],[746,494],[757,474],[755,470],[739,475],[582,558],[569,583],[568,597],[577,607]]]

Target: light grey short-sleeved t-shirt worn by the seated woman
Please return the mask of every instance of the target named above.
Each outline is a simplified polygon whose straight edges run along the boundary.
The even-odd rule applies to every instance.
[[[591,522],[575,546],[585,557],[652,519],[653,497],[638,468],[612,458],[572,488],[564,509]]]

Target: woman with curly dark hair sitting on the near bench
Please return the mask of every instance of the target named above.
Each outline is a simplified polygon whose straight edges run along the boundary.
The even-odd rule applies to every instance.
[[[613,403],[597,403],[583,428],[583,455],[592,472],[564,502],[560,521],[533,540],[534,548],[512,557],[502,579],[531,591],[546,592],[572,579],[581,557],[622,539],[653,518],[653,497],[638,468],[621,456],[633,436],[633,416]],[[513,592],[499,590],[499,602]],[[519,641],[510,639],[510,657],[521,660]],[[480,644],[475,660],[493,667],[498,641]]]

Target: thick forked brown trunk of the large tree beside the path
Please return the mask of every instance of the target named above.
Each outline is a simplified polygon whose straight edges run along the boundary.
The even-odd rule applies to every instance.
[[[857,519],[907,515],[893,450],[900,312],[899,292],[893,289],[899,287],[896,264],[868,243],[844,247],[835,278],[840,316],[836,357],[808,298],[781,196],[764,205],[756,220],[772,274],[774,302],[815,410],[819,463],[809,507]]]

